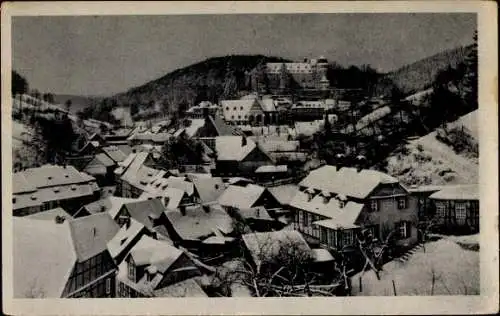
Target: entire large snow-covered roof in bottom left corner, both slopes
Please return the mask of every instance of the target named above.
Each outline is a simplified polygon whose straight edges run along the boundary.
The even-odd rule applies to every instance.
[[[118,229],[107,214],[62,223],[14,217],[14,297],[61,297],[76,262],[105,251]]]

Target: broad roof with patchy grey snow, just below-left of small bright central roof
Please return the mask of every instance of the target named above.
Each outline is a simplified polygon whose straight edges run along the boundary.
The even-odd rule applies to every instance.
[[[197,240],[219,232],[229,234],[233,231],[231,217],[219,205],[207,208],[208,212],[195,206],[186,208],[186,215],[180,211],[167,211],[165,214],[183,240]]]

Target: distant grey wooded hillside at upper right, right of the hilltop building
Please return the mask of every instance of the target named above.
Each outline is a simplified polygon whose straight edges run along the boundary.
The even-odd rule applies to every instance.
[[[403,66],[383,76],[377,88],[381,93],[387,93],[395,84],[404,95],[425,90],[432,85],[440,71],[448,66],[456,68],[463,63],[471,50],[472,45],[462,46]]]

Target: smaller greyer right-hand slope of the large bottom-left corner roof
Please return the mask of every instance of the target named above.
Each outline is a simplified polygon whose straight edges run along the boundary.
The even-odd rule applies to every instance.
[[[83,262],[107,249],[120,227],[107,213],[93,214],[69,221],[75,252]]]

